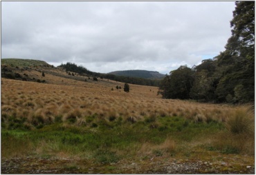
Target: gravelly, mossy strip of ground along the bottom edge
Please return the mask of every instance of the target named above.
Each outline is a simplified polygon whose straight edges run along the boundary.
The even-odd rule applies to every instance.
[[[1,174],[255,174],[254,165],[234,166],[223,161],[153,158],[137,163],[100,164],[88,160],[12,158],[1,161]]]

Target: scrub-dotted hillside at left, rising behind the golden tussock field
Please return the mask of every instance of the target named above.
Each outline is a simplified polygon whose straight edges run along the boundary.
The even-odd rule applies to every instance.
[[[43,75],[44,73],[44,75]],[[93,77],[98,77],[97,81],[93,81]],[[54,67],[46,63],[45,61],[31,60],[31,59],[1,59],[1,78],[15,79],[20,81],[33,81],[37,83],[48,83],[57,85],[77,84],[80,81],[85,84],[97,84],[104,85],[111,88],[115,88],[116,85],[122,86],[125,81],[125,77],[114,76],[110,74],[100,74],[91,72],[91,74],[78,73],[70,70],[66,70],[62,67]],[[111,79],[115,78],[115,79]],[[145,79],[129,79],[136,84],[137,81],[142,83],[143,81],[152,81]]]

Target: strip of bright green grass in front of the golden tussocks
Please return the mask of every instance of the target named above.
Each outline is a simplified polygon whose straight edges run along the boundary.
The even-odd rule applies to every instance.
[[[152,123],[156,127],[152,127]],[[156,117],[154,120],[145,119],[133,124],[106,120],[98,121],[97,125],[98,127],[89,127],[58,122],[33,130],[24,130],[23,127],[15,130],[3,129],[2,151],[5,152],[4,156],[54,156],[64,152],[100,163],[113,163],[122,158],[136,158],[143,143],[157,146],[171,137],[176,143],[184,144],[196,141],[203,134],[211,136],[223,129],[220,123],[194,123],[179,116]],[[8,148],[8,144],[12,148]],[[182,146],[178,145],[177,150],[179,147]],[[165,150],[152,150],[154,156],[163,156],[164,153]]]

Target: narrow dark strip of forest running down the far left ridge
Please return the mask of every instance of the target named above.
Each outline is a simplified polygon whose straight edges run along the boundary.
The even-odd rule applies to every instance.
[[[66,63],[61,64],[58,67],[64,68],[66,72],[76,72],[80,75],[86,75],[86,76],[93,76],[93,77],[99,77],[101,79],[110,79],[113,81],[120,81],[123,83],[131,83],[136,85],[151,85],[151,86],[159,86],[160,80],[152,80],[152,79],[142,79],[142,78],[136,78],[136,77],[130,77],[130,76],[118,76],[114,74],[102,74],[98,72],[91,72],[90,70],[87,70],[82,65],[76,65],[75,63]]]

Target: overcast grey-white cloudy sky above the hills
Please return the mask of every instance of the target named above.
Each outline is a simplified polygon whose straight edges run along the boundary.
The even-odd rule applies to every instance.
[[[233,10],[235,1],[2,1],[1,58],[167,74],[222,52]]]

